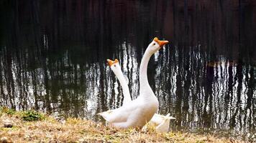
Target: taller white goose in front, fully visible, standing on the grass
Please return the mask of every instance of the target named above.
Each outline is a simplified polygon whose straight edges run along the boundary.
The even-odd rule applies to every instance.
[[[114,127],[143,127],[157,112],[158,100],[147,81],[147,64],[152,54],[165,44],[168,44],[168,41],[154,38],[147,46],[140,64],[140,96],[122,107],[99,113]]]

